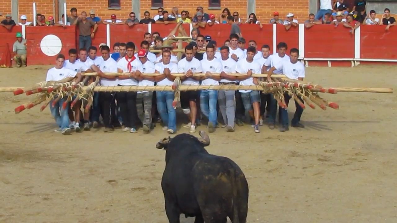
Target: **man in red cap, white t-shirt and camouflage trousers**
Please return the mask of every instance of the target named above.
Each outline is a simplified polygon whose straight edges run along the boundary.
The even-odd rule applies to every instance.
[[[147,58],[148,51],[142,48],[138,51],[137,56],[142,63],[141,72],[154,73],[154,63]],[[154,77],[137,75],[137,80],[139,81],[139,86],[154,86]],[[143,111],[142,127],[144,133],[149,133],[150,129],[152,129],[152,97],[153,91],[145,90],[137,92],[137,110]]]

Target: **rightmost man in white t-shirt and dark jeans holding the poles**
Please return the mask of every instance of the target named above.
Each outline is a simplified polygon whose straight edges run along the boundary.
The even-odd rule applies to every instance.
[[[304,78],[304,65],[301,62],[298,62],[299,57],[299,50],[297,48],[292,48],[289,51],[290,60],[289,61],[279,61],[276,63],[272,68],[269,70],[268,77],[272,75],[272,72],[275,70],[280,70],[282,73],[287,76],[289,79],[303,81]],[[285,104],[288,106],[289,99],[291,96],[288,94],[284,94]],[[303,100],[299,98],[299,100]],[[295,100],[294,100],[295,101]],[[291,126],[297,128],[304,128],[304,125],[299,123],[301,121],[301,116],[303,113],[303,108],[299,106],[299,104],[295,101],[296,111],[294,114],[293,119],[291,120]],[[280,108],[281,111],[281,124],[282,127],[280,128],[281,132],[285,132],[289,130],[288,128],[288,112],[284,108]]]

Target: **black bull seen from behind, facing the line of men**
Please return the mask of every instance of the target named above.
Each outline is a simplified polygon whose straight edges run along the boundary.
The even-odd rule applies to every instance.
[[[170,223],[179,215],[196,217],[195,223],[245,223],[248,211],[248,183],[240,167],[222,156],[208,154],[210,138],[180,134],[164,138],[158,149],[166,150],[166,168],[161,187]]]

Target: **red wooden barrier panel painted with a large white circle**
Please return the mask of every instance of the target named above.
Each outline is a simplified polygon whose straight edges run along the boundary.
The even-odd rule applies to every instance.
[[[75,27],[26,27],[27,64],[54,64],[58,54],[75,48]]]

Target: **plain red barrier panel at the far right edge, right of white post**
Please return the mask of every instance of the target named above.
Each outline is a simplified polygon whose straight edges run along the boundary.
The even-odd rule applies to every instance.
[[[397,27],[385,31],[384,25],[360,27],[360,58],[397,59]]]

